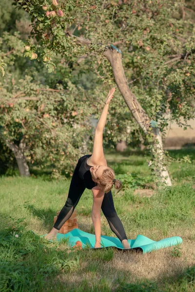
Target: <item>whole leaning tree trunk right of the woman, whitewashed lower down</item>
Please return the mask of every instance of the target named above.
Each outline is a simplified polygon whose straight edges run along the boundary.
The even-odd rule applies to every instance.
[[[107,49],[104,52],[104,55],[109,60],[112,66],[118,89],[121,92],[128,108],[131,110],[134,118],[139,124],[139,127],[142,128],[145,134],[149,134],[148,128],[150,126],[150,118],[137,101],[135,94],[129,88],[122,65],[121,54],[117,53],[116,50]],[[156,155],[153,156],[155,159],[155,164],[158,164],[156,171],[158,171],[159,173],[161,182],[170,186],[172,185],[171,179],[169,177],[169,173],[166,169],[166,166],[163,164],[163,145],[159,129],[153,128],[153,134],[155,135],[153,153],[156,153]]]

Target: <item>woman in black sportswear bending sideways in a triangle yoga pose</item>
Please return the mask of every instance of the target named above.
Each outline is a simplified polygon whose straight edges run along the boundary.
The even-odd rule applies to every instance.
[[[84,155],[78,160],[78,164],[71,180],[67,201],[61,209],[53,229],[46,235],[46,239],[56,238],[61,226],[73,214],[85,188],[88,188],[93,192],[92,220],[96,235],[95,247],[101,247],[100,210],[102,209],[110,228],[120,239],[123,247],[126,249],[130,248],[124,227],[117,216],[111,192],[113,184],[118,190],[121,189],[122,184],[115,179],[114,170],[107,166],[102,146],[103,128],[106,124],[109,103],[113,98],[114,92],[115,88],[109,91],[104,109],[99,118],[95,131],[93,153],[92,155]]]

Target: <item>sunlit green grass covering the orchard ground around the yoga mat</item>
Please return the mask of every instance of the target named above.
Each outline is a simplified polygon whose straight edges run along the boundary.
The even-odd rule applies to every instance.
[[[75,251],[67,241],[47,242],[39,235],[53,227],[64,205],[70,181],[49,176],[0,178],[0,292],[194,292],[195,291],[195,151],[170,151],[173,158],[189,155],[192,164],[172,163],[173,187],[155,191],[149,199],[125,189],[114,194],[115,207],[127,237],[142,234],[154,240],[180,236],[180,246],[149,254],[112,249]],[[116,176],[150,175],[144,152],[106,154]],[[37,171],[37,174],[39,172]],[[78,206],[78,225],[94,233],[92,194],[86,190]],[[101,215],[102,234],[115,236]],[[16,237],[17,235],[17,237]]]

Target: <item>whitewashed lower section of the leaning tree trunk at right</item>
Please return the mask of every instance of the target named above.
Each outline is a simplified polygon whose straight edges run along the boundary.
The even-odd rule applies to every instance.
[[[155,171],[156,177],[158,176],[160,177],[160,182],[156,182],[156,183],[157,184],[164,183],[167,186],[172,186],[169,173],[163,163],[164,151],[163,151],[162,138],[161,138],[159,129],[153,128],[153,134],[154,134],[154,142],[153,142],[152,152],[153,152],[154,162],[155,162],[154,171]]]

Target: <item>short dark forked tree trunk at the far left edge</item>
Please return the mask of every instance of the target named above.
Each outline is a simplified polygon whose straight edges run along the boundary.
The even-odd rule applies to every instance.
[[[24,150],[26,144],[22,141],[20,142],[20,145],[17,146],[13,142],[6,141],[6,145],[14,152],[14,155],[16,157],[16,161],[18,164],[18,168],[20,171],[21,176],[30,176],[30,171],[28,164],[26,162],[26,157],[24,156]]]

